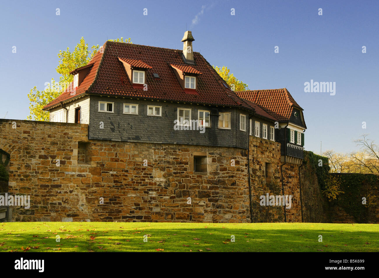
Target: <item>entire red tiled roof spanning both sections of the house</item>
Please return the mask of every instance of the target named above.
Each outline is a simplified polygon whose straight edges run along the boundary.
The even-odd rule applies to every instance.
[[[241,107],[272,121],[277,121],[277,117],[288,116],[287,106],[299,107],[286,89],[233,92],[200,53],[193,54],[195,64],[188,65],[183,64],[182,50],[107,41],[103,51],[98,52],[89,62],[93,66],[79,87],[76,90],[66,90],[47,104],[44,110],[85,94]],[[133,67],[146,68],[147,91],[143,87],[133,88],[119,60]],[[199,74],[198,94],[185,93],[171,67],[184,73]],[[153,73],[158,73],[160,78],[154,78]]]

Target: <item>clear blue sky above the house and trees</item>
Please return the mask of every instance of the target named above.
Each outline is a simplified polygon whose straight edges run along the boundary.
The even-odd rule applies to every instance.
[[[191,30],[194,51],[229,67],[249,89],[290,91],[304,109],[305,149],[319,153],[322,141],[323,151],[351,152],[363,133],[379,143],[378,14],[377,1],[2,2],[0,118],[26,119],[30,89],[59,79],[57,53],[82,36],[89,47],[130,37],[182,49]],[[305,93],[311,79],[335,82],[335,95]]]

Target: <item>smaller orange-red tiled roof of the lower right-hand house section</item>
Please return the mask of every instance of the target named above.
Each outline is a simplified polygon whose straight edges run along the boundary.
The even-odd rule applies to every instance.
[[[237,91],[235,93],[240,98],[258,104],[259,106],[263,107],[263,109],[266,109],[266,111],[269,110],[267,111],[268,113],[270,111],[273,112],[272,115],[275,116],[279,121],[290,121],[294,108],[297,108],[300,111],[304,110],[299,106],[298,103],[296,103],[286,88],[273,90]]]

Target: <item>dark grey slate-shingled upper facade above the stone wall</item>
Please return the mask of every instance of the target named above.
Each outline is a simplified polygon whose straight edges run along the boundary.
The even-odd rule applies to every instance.
[[[99,101],[114,103],[114,113],[99,112]],[[138,104],[138,115],[124,114],[124,103]],[[148,116],[147,106],[149,105],[161,106],[161,116]],[[218,128],[218,116],[211,115],[211,126],[205,127],[204,133],[200,133],[200,130],[175,130],[174,120],[178,118],[178,108],[191,109],[191,120],[198,119],[199,110],[208,110],[211,114],[215,112],[213,109],[217,109],[218,113],[230,112],[230,129]],[[246,131],[240,130],[240,113],[246,115]],[[224,146],[247,149],[247,136],[249,132],[248,111],[236,107],[216,107],[171,101],[151,101],[148,99],[91,95],[89,118],[89,139]],[[255,119],[257,118],[252,119],[253,124]],[[262,122],[267,123],[268,126],[273,126],[271,122],[263,121],[262,119],[257,120],[260,121],[261,126]]]

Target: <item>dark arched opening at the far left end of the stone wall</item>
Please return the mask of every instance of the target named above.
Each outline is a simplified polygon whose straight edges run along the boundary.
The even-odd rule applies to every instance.
[[[9,160],[10,155],[8,152],[0,149],[0,195],[2,199],[5,200],[5,194],[8,193],[8,182],[9,182]],[[0,202],[0,222],[7,222],[9,215],[9,208],[6,203]]]

